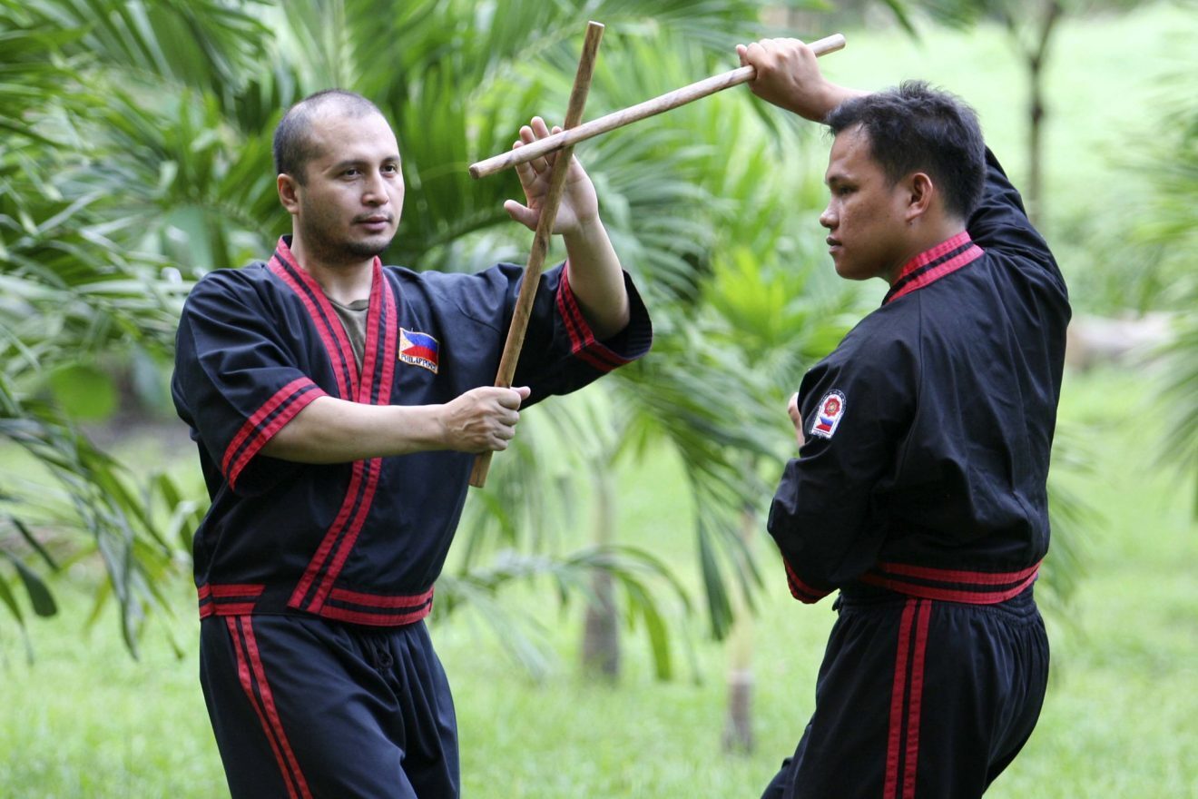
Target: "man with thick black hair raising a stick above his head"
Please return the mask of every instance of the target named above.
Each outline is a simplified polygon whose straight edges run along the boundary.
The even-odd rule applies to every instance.
[[[837,86],[795,40],[737,49],[754,92],[835,134],[819,223],[836,272],[890,285],[788,406],[799,456],[768,527],[794,598],[839,591],[839,617],[764,797],[980,797],[1048,677],[1033,582],[1065,283],[957,98]]]

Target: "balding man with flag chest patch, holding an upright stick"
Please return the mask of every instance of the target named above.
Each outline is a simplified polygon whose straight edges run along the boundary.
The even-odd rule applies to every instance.
[[[516,146],[550,134],[538,117]],[[522,271],[382,266],[399,145],[365,98],[294,105],[274,139],[292,217],[268,262],[205,276],[173,394],[212,507],[194,543],[200,679],[236,799],[459,795],[453,700],[424,617],[477,453],[519,410],[645,355],[652,328],[571,161],[518,388],[492,386]],[[518,168],[536,228],[553,157]]]

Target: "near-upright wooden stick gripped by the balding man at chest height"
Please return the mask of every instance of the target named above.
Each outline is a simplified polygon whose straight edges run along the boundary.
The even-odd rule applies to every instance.
[[[574,74],[574,89],[570,91],[570,102],[565,109],[564,129],[569,129],[582,121],[582,109],[587,104],[587,93],[591,91],[591,74],[594,72],[595,54],[599,52],[599,41],[603,38],[604,26],[597,22],[587,23],[587,37],[582,43],[582,57],[579,59],[579,71]],[[536,143],[533,143],[536,144]],[[521,145],[512,152],[520,152],[531,144]],[[555,147],[558,149],[558,147]],[[540,218],[537,220],[537,232],[532,240],[532,250],[528,253],[528,264],[525,266],[524,282],[520,284],[520,295],[516,297],[516,307],[512,314],[512,327],[508,328],[508,340],[503,344],[503,356],[500,358],[500,374],[495,377],[495,385],[503,388],[512,387],[512,379],[516,373],[516,362],[520,359],[520,350],[524,347],[524,337],[528,331],[528,319],[532,316],[533,301],[537,297],[537,285],[540,283],[540,270],[545,264],[545,254],[549,252],[549,240],[553,234],[553,222],[557,219],[557,206],[562,202],[562,190],[565,187],[565,174],[570,169],[570,159],[574,157],[574,147],[564,145],[553,159],[553,167],[549,172],[549,190],[540,206]],[[532,161],[525,158],[521,163]],[[486,483],[486,472],[491,467],[492,453],[485,452],[474,459],[474,468],[470,474],[470,484],[474,488],[483,488]]]

